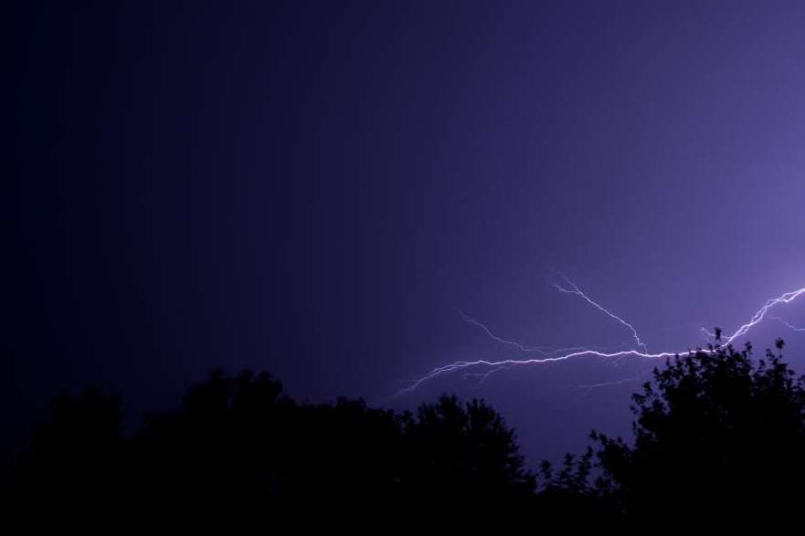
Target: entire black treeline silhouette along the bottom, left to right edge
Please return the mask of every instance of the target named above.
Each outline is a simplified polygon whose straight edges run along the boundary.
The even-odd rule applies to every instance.
[[[793,514],[805,499],[805,378],[782,348],[760,360],[748,345],[669,360],[632,397],[629,442],[593,432],[586,453],[535,472],[514,430],[479,400],[443,396],[413,414],[361,400],[302,404],[269,373],[217,372],[179,409],[123,436],[120,400],[90,388],[54,401],[6,504],[88,514],[316,504],[505,505],[588,520]]]

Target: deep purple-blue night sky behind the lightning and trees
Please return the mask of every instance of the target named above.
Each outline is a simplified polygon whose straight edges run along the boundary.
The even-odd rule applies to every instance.
[[[659,363],[395,396],[446,363],[522,358],[458,311],[526,345],[630,342],[552,287],[561,271],[650,350],[685,351],[805,285],[801,2],[29,1],[3,18],[4,455],[62,390],[114,389],[135,426],[223,365],[312,401],[484,397],[535,466],[592,427],[628,433],[624,379]],[[805,325],[805,300],[774,312]],[[747,339],[776,336],[796,365],[805,332]]]

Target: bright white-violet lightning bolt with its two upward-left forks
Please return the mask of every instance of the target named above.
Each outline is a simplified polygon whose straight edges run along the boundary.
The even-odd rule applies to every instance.
[[[637,334],[637,331],[634,329],[634,327],[629,322],[624,321],[623,319],[621,319],[617,315],[611,313],[606,308],[600,306],[595,301],[590,300],[587,297],[587,295],[584,292],[581,291],[581,289],[578,289],[578,287],[577,287],[577,285],[575,283],[573,283],[570,279],[567,279],[567,278],[565,278],[565,279],[567,281],[567,284],[570,285],[570,289],[566,289],[566,288],[561,287],[559,285],[556,286],[557,289],[559,289],[560,291],[563,291],[563,292],[576,294],[577,296],[579,296],[579,297],[583,298],[584,300],[588,301],[588,303],[590,305],[594,306],[596,309],[601,310],[602,312],[607,314],[610,318],[612,318],[614,320],[617,320],[617,321],[620,321],[620,323],[622,323],[626,327],[630,328],[630,330],[632,331],[632,335],[633,335],[633,338],[634,338],[635,342],[637,342],[638,345],[643,348],[643,352],[640,352],[638,350],[633,350],[633,349],[632,350],[620,351],[620,352],[599,352],[597,350],[581,349],[581,350],[577,350],[577,351],[573,351],[573,352],[562,353],[562,354],[559,354],[559,355],[549,355],[549,356],[543,356],[543,357],[540,357],[540,358],[532,358],[532,359],[524,359],[524,360],[504,359],[504,360],[500,360],[500,361],[491,361],[491,360],[457,361],[455,363],[449,363],[449,364],[446,364],[446,365],[442,365],[440,367],[437,367],[437,368],[431,370],[429,373],[427,373],[424,376],[420,377],[418,380],[414,381],[410,386],[408,386],[405,389],[402,389],[397,394],[410,393],[410,392],[416,390],[419,385],[421,385],[421,384],[423,384],[425,382],[428,382],[429,380],[432,380],[432,379],[436,378],[437,376],[440,376],[440,375],[443,375],[443,374],[448,374],[448,373],[454,373],[454,372],[461,371],[461,370],[472,369],[472,368],[476,368],[476,367],[487,367],[489,369],[493,369],[493,370],[490,371],[490,373],[493,373],[493,372],[496,372],[497,370],[504,370],[506,368],[511,368],[511,367],[518,366],[518,365],[560,363],[560,362],[564,362],[564,361],[568,361],[568,360],[572,360],[572,359],[585,358],[585,357],[596,358],[596,359],[601,359],[601,360],[619,360],[619,359],[623,359],[625,357],[633,356],[633,357],[641,358],[641,359],[644,359],[644,360],[649,360],[649,359],[671,358],[671,357],[673,357],[675,355],[678,355],[680,353],[680,352],[655,352],[655,353],[650,353],[650,352],[645,351],[645,344],[643,344],[641,342],[641,339],[640,339],[639,335]],[[803,294],[805,294],[805,287],[803,287],[801,289],[797,289],[797,290],[792,290],[790,292],[786,292],[784,294],[781,294],[777,298],[771,298],[771,299],[767,300],[766,303],[764,303],[763,306],[759,310],[757,310],[757,312],[752,316],[752,318],[749,321],[747,321],[747,323],[741,325],[732,335],[730,335],[729,337],[726,338],[725,344],[731,344],[738,337],[742,337],[742,336],[746,335],[748,331],[750,331],[752,328],[757,326],[758,323],[760,323],[761,321],[763,321],[766,318],[768,310],[770,310],[770,309],[772,309],[772,308],[774,308],[774,307],[776,307],[776,306],[778,306],[780,304],[790,303],[791,301],[798,299]],[[465,317],[465,318],[469,318],[469,317]],[[495,336],[492,331],[489,331],[488,328],[485,328],[485,326],[483,326],[480,322],[473,321],[471,323],[474,323],[476,325],[479,325],[480,327],[483,327],[483,329],[485,329],[487,334],[490,335],[491,337],[493,337],[495,340],[498,340],[498,341],[504,342],[504,343],[508,343],[508,344],[512,344],[515,347],[518,347],[520,350],[523,350],[524,352],[531,350],[531,349],[529,349],[529,347],[526,347],[526,346],[524,346],[524,345],[522,345],[520,343],[512,342],[512,341],[506,341],[506,340],[503,340],[503,339]],[[704,332],[706,332],[706,331],[704,331]],[[710,334],[709,332],[707,332],[707,333]],[[712,335],[712,334],[710,334],[710,335]],[[715,350],[713,350],[713,349],[702,350],[702,352],[715,352]],[[485,377],[488,377],[488,374]],[[485,377],[484,377],[484,379],[485,379]]]

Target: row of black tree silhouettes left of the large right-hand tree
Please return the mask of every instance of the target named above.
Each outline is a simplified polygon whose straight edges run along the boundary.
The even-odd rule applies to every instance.
[[[132,437],[120,434],[115,398],[95,390],[60,398],[15,477],[16,499],[37,505],[171,512],[534,492],[514,431],[482,401],[445,396],[416,416],[362,400],[299,404],[269,373],[230,378],[221,371],[194,385],[178,410],[148,417]]]

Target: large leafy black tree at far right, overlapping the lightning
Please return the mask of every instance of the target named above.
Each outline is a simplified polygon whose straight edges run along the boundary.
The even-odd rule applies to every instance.
[[[593,434],[602,489],[651,518],[786,511],[803,497],[805,379],[749,344],[677,356],[632,396],[634,445]],[[655,519],[661,519],[656,517]]]

